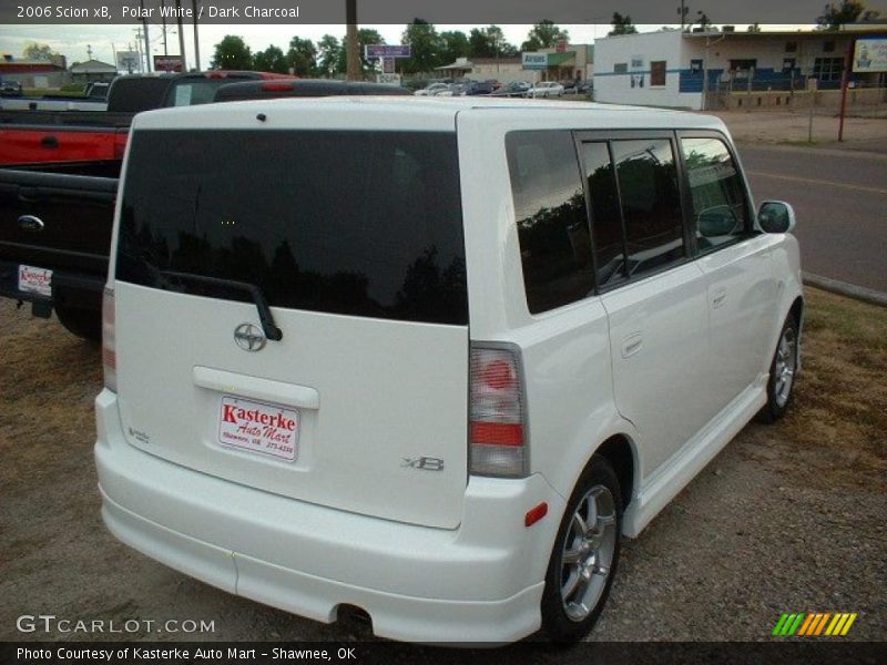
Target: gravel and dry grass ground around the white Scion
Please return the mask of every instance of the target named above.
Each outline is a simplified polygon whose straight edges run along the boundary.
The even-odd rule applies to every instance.
[[[814,611],[858,612],[847,640],[887,640],[887,310],[808,298],[794,411],[747,427],[624,542],[592,640],[768,640],[782,612]],[[109,637],[22,634],[22,614],[214,622],[192,640],[370,638],[357,621],[295,617],[118,543],[101,523],[92,460],[99,349],[6,299],[0,349],[0,640]],[[129,635],[149,637],[182,635]]]

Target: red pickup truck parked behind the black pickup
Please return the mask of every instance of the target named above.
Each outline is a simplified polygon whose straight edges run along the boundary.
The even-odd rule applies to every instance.
[[[265,72],[193,72],[120,76],[106,111],[0,111],[0,165],[120,161],[140,111],[213,101],[226,83],[293,79]]]

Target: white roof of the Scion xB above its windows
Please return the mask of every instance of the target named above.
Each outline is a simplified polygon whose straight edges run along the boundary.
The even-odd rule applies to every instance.
[[[682,111],[478,96],[328,96],[253,100],[140,113],[134,129],[343,129],[453,131],[459,113],[482,112],[490,122],[538,119],[540,129],[720,129],[714,116]],[[258,120],[264,116],[264,120]],[[557,122],[550,122],[557,119]],[[565,125],[564,125],[565,123]]]

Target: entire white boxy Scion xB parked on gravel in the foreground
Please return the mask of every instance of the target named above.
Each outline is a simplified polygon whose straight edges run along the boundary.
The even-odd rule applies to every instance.
[[[140,114],[96,400],[111,532],[322,622],[582,638],[620,535],[799,369],[794,213],[721,121],[326,99]]]

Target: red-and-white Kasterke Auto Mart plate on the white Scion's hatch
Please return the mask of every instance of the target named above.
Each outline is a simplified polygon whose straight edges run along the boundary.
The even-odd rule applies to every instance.
[[[223,396],[218,442],[293,462],[298,454],[298,411]]]

